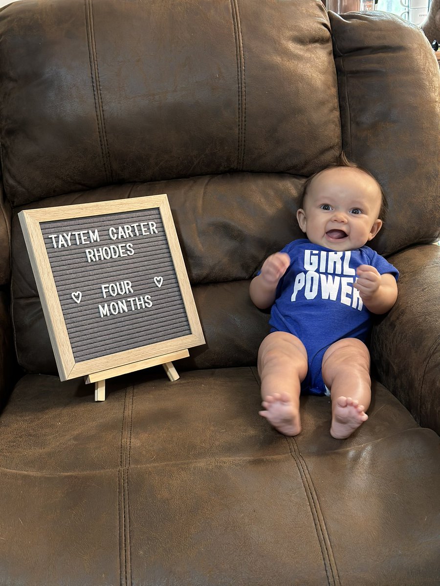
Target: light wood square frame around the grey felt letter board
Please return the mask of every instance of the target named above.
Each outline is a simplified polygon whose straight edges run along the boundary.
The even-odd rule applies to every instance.
[[[160,210],[191,333],[165,340],[164,342],[156,342],[134,349],[112,353],[107,356],[76,361],[73,356],[72,346],[70,345],[69,334],[57,294],[40,223],[53,220],[72,220],[75,218],[104,216],[121,212],[148,210],[151,208],[159,208]],[[205,343],[166,194],[99,203],[23,210],[18,216],[31,260],[43,314],[48,326],[50,342],[52,343],[55,354],[60,380],[88,376],[93,373],[99,373],[129,364],[133,364],[133,370],[138,370],[136,363]],[[124,369],[124,372],[128,372],[127,368]]]

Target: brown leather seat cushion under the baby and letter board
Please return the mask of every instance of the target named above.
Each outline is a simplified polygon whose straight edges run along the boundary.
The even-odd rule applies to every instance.
[[[24,377],[2,415],[2,572],[47,586],[66,568],[84,586],[432,584],[438,436],[380,384],[344,442],[327,398],[302,398],[295,438],[259,404],[253,368],[174,383],[151,369],[107,381],[99,404],[82,381]]]

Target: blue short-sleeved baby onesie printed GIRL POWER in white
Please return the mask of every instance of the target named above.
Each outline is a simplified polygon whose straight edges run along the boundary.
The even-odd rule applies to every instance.
[[[370,331],[370,311],[353,287],[357,267],[371,265],[381,275],[391,273],[396,281],[399,272],[368,246],[338,252],[300,239],[287,244],[281,252],[289,254],[290,267],[276,289],[270,312],[271,332],[289,332],[303,342],[309,372],[302,392],[324,395],[324,352],[343,338],[366,342]]]

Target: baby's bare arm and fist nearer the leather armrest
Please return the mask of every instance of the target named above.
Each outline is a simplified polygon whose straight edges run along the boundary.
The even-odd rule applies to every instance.
[[[367,264],[361,264],[356,273],[358,278],[353,287],[358,289],[364,305],[373,314],[385,314],[397,299],[395,278],[389,272],[381,275]]]

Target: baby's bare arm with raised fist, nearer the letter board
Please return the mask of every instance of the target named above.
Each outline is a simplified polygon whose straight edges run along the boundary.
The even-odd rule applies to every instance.
[[[289,265],[290,257],[286,253],[275,253],[266,258],[260,274],[252,279],[249,287],[253,304],[259,309],[266,309],[273,304],[277,284]]]

